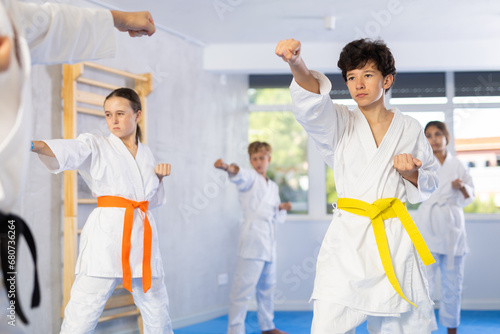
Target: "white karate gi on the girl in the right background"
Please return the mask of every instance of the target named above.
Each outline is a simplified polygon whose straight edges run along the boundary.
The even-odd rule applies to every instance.
[[[436,263],[427,266],[431,296],[437,270],[441,271],[439,323],[456,328],[460,324],[465,255],[469,252],[462,208],[474,200],[474,184],[468,168],[450,152],[438,170],[438,177],[439,188],[419,206],[416,221],[436,259]],[[469,198],[451,186],[458,178],[462,179]]]

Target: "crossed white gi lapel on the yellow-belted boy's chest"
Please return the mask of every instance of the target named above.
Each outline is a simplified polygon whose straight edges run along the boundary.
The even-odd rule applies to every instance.
[[[373,138],[372,131],[370,129],[370,125],[368,121],[362,114],[359,109],[356,109],[357,113],[356,117],[360,117],[360,119],[356,122],[356,126],[361,127],[360,129],[360,137],[362,137],[362,145],[363,149],[367,153],[370,154],[370,159],[368,159],[368,163],[363,169],[363,172],[360,174],[361,177],[355,184],[355,189],[359,189],[358,192],[362,193],[365,191],[367,186],[373,184],[370,182],[374,177],[381,177],[381,173],[388,173],[389,171],[386,168],[387,159],[390,156],[391,159],[394,158],[396,154],[396,148],[400,141],[401,136],[403,136],[403,117],[401,112],[397,109],[394,109],[394,117],[392,119],[391,125],[387,130],[382,142],[379,147],[375,143],[375,138]],[[384,168],[385,170],[379,171],[380,168]]]

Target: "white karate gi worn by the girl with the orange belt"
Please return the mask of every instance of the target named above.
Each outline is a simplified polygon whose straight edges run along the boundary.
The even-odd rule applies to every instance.
[[[52,158],[39,155],[49,171],[59,173],[63,170],[78,169],[95,197],[118,196],[136,202],[149,201],[150,209],[166,201],[163,184],[159,182],[154,171],[156,165],[153,154],[140,142],[135,159],[121,139],[113,134],[108,137],[81,134],[77,139],[46,140],[45,143],[56,156]],[[151,289],[145,294],[141,286],[133,288],[134,300],[141,309],[146,333],[171,333],[158,232],[153,215],[150,211],[147,214],[153,231],[151,246],[153,280]],[[124,216],[125,208],[98,207],[87,219],[80,237],[80,252],[75,269],[77,280],[65,312],[64,333],[74,333],[76,329],[82,330],[82,333],[92,331],[118,279],[123,277],[121,254]],[[142,277],[144,218],[144,213],[140,209],[134,211],[129,257],[133,278]],[[90,293],[87,291],[92,291],[92,282],[95,283],[96,290],[100,289],[107,293],[96,292],[96,296],[90,295],[90,298]],[[86,285],[90,288],[83,290],[82,286]],[[93,301],[91,309],[94,312],[89,314],[88,319],[84,318],[85,313],[79,308],[80,305],[84,307],[82,299],[85,298]],[[141,302],[143,298],[149,299],[150,302]],[[149,312],[152,313],[144,318],[148,311],[143,310],[143,307],[148,303],[152,303],[149,305]],[[75,324],[85,324],[86,329],[83,330]],[[148,331],[148,326],[153,330]]]

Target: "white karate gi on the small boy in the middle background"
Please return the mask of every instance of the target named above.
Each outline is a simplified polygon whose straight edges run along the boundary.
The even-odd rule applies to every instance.
[[[244,334],[248,301],[256,288],[257,317],[262,331],[274,329],[273,294],[276,285],[276,223],[283,223],[286,210],[279,210],[279,189],[254,169],[240,168],[229,178],[238,187],[244,222],[240,230],[238,263],[231,288],[228,334]]]

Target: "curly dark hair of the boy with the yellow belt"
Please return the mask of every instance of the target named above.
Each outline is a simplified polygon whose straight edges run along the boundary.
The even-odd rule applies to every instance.
[[[377,68],[386,77],[392,74],[396,79],[396,65],[391,50],[381,40],[369,38],[350,42],[342,49],[337,66],[342,71],[342,77],[347,82],[347,72],[364,67],[369,61],[377,64]],[[394,82],[393,82],[394,85]],[[391,86],[392,87],[392,86]],[[387,88],[387,93],[391,87]]]

